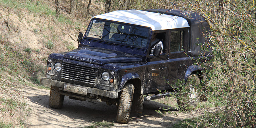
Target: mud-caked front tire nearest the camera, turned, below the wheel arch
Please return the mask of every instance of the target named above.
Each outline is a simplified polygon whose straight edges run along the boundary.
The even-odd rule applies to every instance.
[[[116,121],[118,123],[128,123],[133,102],[133,84],[126,83],[123,87],[119,99]]]

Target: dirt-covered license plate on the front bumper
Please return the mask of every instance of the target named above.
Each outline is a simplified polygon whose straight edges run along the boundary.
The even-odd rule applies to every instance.
[[[64,91],[87,95],[87,88],[83,86],[74,86],[70,84],[64,84]]]

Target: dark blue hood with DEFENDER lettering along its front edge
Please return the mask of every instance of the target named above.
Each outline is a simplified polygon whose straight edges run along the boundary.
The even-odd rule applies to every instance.
[[[64,58],[99,65],[106,63],[141,62],[143,60],[140,56],[129,55],[121,51],[86,46],[66,53]]]

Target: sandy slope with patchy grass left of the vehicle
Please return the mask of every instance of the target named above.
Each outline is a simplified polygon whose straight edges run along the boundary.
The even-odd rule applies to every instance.
[[[88,22],[66,13],[67,1],[58,18],[53,2],[0,0],[0,127],[28,127],[30,108],[16,98],[19,88],[48,88],[40,84],[48,55],[75,49],[72,38],[85,32]]]

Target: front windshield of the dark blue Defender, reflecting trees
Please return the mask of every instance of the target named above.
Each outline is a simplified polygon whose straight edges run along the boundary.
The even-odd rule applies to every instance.
[[[146,47],[150,28],[123,24],[100,19],[93,19],[86,37],[97,38],[104,42],[113,42],[135,47]]]

